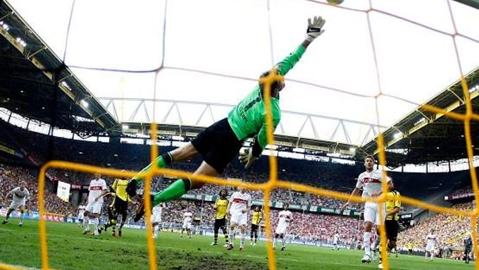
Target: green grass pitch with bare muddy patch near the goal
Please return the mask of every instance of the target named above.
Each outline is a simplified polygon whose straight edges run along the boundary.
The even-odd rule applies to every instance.
[[[148,269],[146,231],[123,229],[121,238],[113,238],[111,230],[99,237],[82,235],[82,228],[73,223],[47,221],[50,267],[55,269]],[[239,252],[227,251],[218,243],[210,246],[211,237],[195,235],[192,239],[180,238],[178,233],[162,232],[156,241],[158,269],[175,270],[242,270],[268,269],[266,245],[249,245]],[[351,270],[378,269],[377,262],[361,264],[362,252],[358,250],[330,250],[302,245],[287,245],[287,250],[276,251],[278,269]],[[38,221],[11,219],[0,224],[0,262],[18,266],[40,268]],[[474,264],[449,259],[425,262],[423,257],[400,255],[390,258],[390,269],[473,269]]]

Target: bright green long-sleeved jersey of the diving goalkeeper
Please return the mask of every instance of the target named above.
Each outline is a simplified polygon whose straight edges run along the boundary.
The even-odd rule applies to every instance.
[[[286,75],[298,63],[304,51],[306,49],[303,46],[299,46],[278,63],[276,65],[278,73],[282,76]],[[278,98],[271,97],[271,112],[274,130],[281,120],[280,101]],[[228,123],[230,123],[238,140],[245,140],[256,135],[256,140],[259,142],[261,149],[266,147],[268,144],[266,139],[266,110],[259,85],[256,85],[254,90],[228,113]]]

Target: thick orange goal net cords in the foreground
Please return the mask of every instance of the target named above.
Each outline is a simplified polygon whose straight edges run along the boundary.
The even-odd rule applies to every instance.
[[[321,3],[318,3],[321,4]],[[452,16],[452,11],[451,11],[451,6],[449,4],[449,11],[451,13],[451,18],[454,23],[454,18]],[[375,48],[374,48],[374,40],[373,40],[373,33],[371,31],[371,22],[369,20],[369,13],[371,11],[378,11],[373,9],[372,4],[370,3],[371,8],[368,9],[367,11],[363,11],[368,15],[368,27],[369,27],[369,32],[370,32],[370,38],[371,38],[371,45],[373,47],[373,52],[374,56],[376,57],[375,54]],[[341,6],[337,6],[337,8],[343,8]],[[345,9],[352,9],[352,8],[345,8]],[[357,10],[354,10],[357,11]],[[380,13],[385,13],[384,11],[378,11]],[[394,16],[390,13],[385,13],[390,16]],[[394,16],[399,18],[399,16]],[[403,18],[404,19],[404,18]],[[404,19],[406,20],[406,19]],[[410,20],[407,20],[410,23],[414,23],[416,25],[421,25],[419,23],[412,22]],[[427,27],[425,25],[421,25],[422,27],[426,27],[428,29],[431,29],[430,27]],[[434,30],[434,29],[431,29]],[[439,30],[435,30],[437,32],[440,32]],[[449,35],[448,33],[441,32],[444,35]],[[477,176],[475,174],[474,166],[473,166],[473,148],[472,148],[472,142],[471,142],[471,121],[479,121],[479,115],[473,113],[473,108],[471,105],[471,97],[469,94],[469,89],[468,85],[466,83],[466,80],[464,78],[464,73],[461,69],[461,64],[459,62],[459,53],[458,49],[456,47],[456,39],[454,37],[456,36],[461,36],[465,37],[464,35],[460,35],[457,30],[456,30],[456,25],[454,24],[454,34],[450,35],[452,36],[454,40],[454,48],[456,52],[456,58],[459,66],[459,70],[461,72],[461,85],[462,85],[462,90],[464,92],[464,102],[466,104],[466,113],[465,114],[460,114],[460,113],[454,113],[452,111],[446,111],[444,109],[438,108],[436,106],[430,106],[427,104],[421,105],[422,109],[425,109],[426,111],[430,111],[433,113],[438,113],[444,116],[447,116],[449,118],[456,119],[458,121],[464,122],[464,135],[466,139],[466,149],[467,149],[467,156],[468,156],[468,165],[470,168],[470,173],[471,173],[471,182],[473,186],[473,191],[475,194],[475,202],[476,202],[476,207],[474,211],[462,211],[459,209],[452,209],[452,208],[447,208],[447,207],[438,207],[433,204],[428,204],[425,202],[422,202],[420,200],[415,200],[413,198],[409,197],[402,197],[402,202],[406,204],[411,204],[415,205],[418,207],[421,207],[423,209],[430,209],[432,211],[440,212],[440,213],[446,213],[446,214],[454,214],[454,215],[462,215],[462,216],[471,216],[471,228],[472,228],[472,235],[473,235],[473,250],[475,257],[479,257],[479,250],[478,250],[478,233],[477,233],[477,227],[475,226],[477,217],[479,215],[479,207],[477,207],[477,204],[479,203],[479,188],[478,188],[478,181],[477,181]],[[476,42],[475,40],[473,40]],[[376,71],[378,71],[378,63],[375,59],[375,68]],[[158,70],[157,70],[157,75],[158,75]],[[266,123],[267,123],[267,130],[268,130],[268,143],[273,145],[274,144],[274,137],[273,137],[273,121],[272,121],[272,116],[271,116],[271,111],[270,111],[270,84],[274,80],[282,80],[282,78],[278,75],[275,75],[274,72],[271,72],[268,77],[262,79],[263,82],[265,83],[265,90],[266,94],[264,95],[265,98],[265,104],[266,104]],[[380,80],[380,75],[378,73],[378,80]],[[380,84],[379,84],[380,85]],[[156,91],[156,89],[155,89]],[[380,93],[380,95],[384,95]],[[379,96],[380,96],[379,95]],[[378,97],[379,97],[378,96]],[[156,92],[155,92],[155,97],[156,97]],[[375,99],[378,99],[378,97],[375,97]],[[377,111],[378,113],[378,111]],[[151,140],[156,140],[156,123],[151,124]],[[383,140],[382,134],[378,135],[376,142],[378,143],[378,155],[379,155],[379,161],[380,161],[380,166],[381,168],[385,168],[386,164],[386,156],[385,156],[385,142]],[[158,149],[155,144],[151,145],[151,162],[153,162],[156,157],[158,156]],[[232,182],[228,181],[226,179],[222,178],[212,178],[209,176],[201,176],[201,175],[194,175],[192,173],[187,173],[185,171],[178,171],[178,170],[173,170],[173,169],[168,169],[168,168],[156,168],[152,167],[151,170],[146,171],[144,173],[138,174],[135,171],[121,171],[120,169],[111,169],[111,168],[101,168],[97,166],[89,166],[85,164],[75,164],[71,162],[66,162],[66,161],[49,161],[48,163],[44,164],[42,166],[40,173],[39,173],[39,190],[38,190],[38,200],[39,200],[39,213],[40,213],[40,219],[39,219],[39,235],[40,235],[40,244],[41,244],[41,250],[42,250],[42,269],[49,269],[49,253],[48,253],[48,246],[46,242],[47,234],[46,234],[46,224],[44,220],[44,214],[45,214],[45,207],[44,207],[44,185],[45,185],[45,173],[49,168],[63,168],[63,169],[69,169],[73,171],[80,171],[84,173],[101,173],[103,175],[107,176],[116,176],[116,177],[122,177],[122,178],[132,178],[133,176],[142,176],[142,178],[145,179],[145,185],[144,185],[144,194],[149,194],[151,190],[151,179],[156,176],[156,175],[164,175],[168,174],[168,176],[175,176],[178,178],[190,178],[195,181],[201,181],[205,183],[212,183],[216,185],[230,185],[230,186],[235,186],[235,187],[244,187],[248,188],[250,190],[262,190],[264,192],[264,214],[265,214],[265,225],[266,225],[266,238],[270,239],[271,238],[271,223],[270,223],[270,205],[268,202],[270,201],[270,192],[274,190],[275,188],[287,188],[291,190],[297,190],[301,192],[309,192],[315,195],[321,195],[325,197],[334,197],[340,200],[351,200],[352,202],[378,202],[380,207],[385,203],[386,201],[386,192],[383,192],[383,195],[377,198],[368,198],[364,199],[362,197],[354,196],[354,197],[349,197],[349,194],[345,194],[342,192],[336,192],[333,190],[325,190],[322,188],[316,188],[312,187],[309,185],[303,185],[299,183],[293,183],[287,180],[278,180],[278,166],[277,166],[277,160],[275,155],[271,154],[269,156],[269,162],[270,162],[270,174],[269,174],[269,180],[267,183],[242,183],[242,182]],[[386,177],[387,172],[385,170],[382,170],[383,173],[383,178]],[[382,189],[383,191],[387,191],[387,185],[385,182],[382,183]],[[146,219],[149,220],[151,216],[151,202],[150,202],[150,197],[145,196],[145,204],[146,204]],[[389,269],[389,262],[388,262],[388,257],[387,257],[387,249],[386,249],[386,243],[387,243],[387,238],[385,235],[385,229],[384,229],[384,216],[382,216],[382,211],[379,211],[380,216],[381,216],[381,223],[380,223],[380,239],[381,239],[381,245],[382,245],[382,258],[383,258],[383,266],[384,269]],[[151,228],[151,223],[147,223],[147,246],[148,246],[148,253],[149,253],[149,269],[157,269],[157,258],[156,258],[156,252],[155,252],[155,245],[154,245],[154,239],[152,238],[152,228]],[[268,251],[268,266],[269,269],[275,270],[277,269],[276,267],[276,260],[275,260],[275,253],[273,252],[273,246],[270,241],[266,241],[266,248]],[[158,258],[161,260],[161,257]],[[0,264],[0,269],[18,269],[13,266],[8,266],[6,264]],[[475,264],[475,269],[479,269],[479,264]]]

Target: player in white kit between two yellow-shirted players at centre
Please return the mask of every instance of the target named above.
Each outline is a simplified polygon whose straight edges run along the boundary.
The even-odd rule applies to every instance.
[[[241,240],[239,241],[239,251],[244,250],[244,239],[248,224],[248,212],[251,209],[251,196],[246,192],[246,188],[239,188],[239,192],[234,192],[230,197],[226,213],[231,215],[230,219],[230,244],[227,250],[233,249],[235,242],[236,227],[241,231]]]

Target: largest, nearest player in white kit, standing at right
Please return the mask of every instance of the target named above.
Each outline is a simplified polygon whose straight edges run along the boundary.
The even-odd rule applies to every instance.
[[[382,193],[382,171],[374,169],[375,160],[373,156],[366,156],[364,159],[364,167],[366,171],[358,176],[356,182],[356,188],[354,188],[351,196],[357,196],[363,190],[363,198],[378,197]],[[388,179],[389,180],[389,179]],[[341,209],[346,208],[349,205],[349,200],[342,205]],[[382,219],[386,218],[386,209],[378,208],[376,202],[366,202],[364,204],[364,233],[363,233],[363,245],[364,256],[361,262],[371,262],[371,229],[373,224],[380,224],[380,214],[382,211]],[[384,222],[384,220],[383,220]]]

